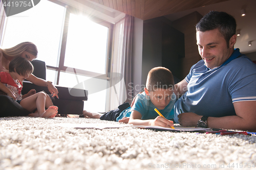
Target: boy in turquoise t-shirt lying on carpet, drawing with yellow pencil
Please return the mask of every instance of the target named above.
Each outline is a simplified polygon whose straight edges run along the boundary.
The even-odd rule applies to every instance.
[[[104,114],[83,111],[84,117],[114,120],[133,125],[173,127],[173,121],[167,120],[174,117],[171,112],[176,96],[173,92],[174,78],[172,72],[164,67],[155,67],[148,72],[146,88],[137,95],[131,108],[128,103],[122,104],[116,110]],[[161,117],[154,110],[157,108],[165,117]],[[130,118],[127,118],[130,117]],[[129,119],[129,122],[127,121]],[[126,120],[126,121],[125,121]]]

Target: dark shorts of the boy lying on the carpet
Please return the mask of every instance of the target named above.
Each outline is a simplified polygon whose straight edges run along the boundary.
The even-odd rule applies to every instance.
[[[100,116],[101,120],[110,120],[110,121],[115,121],[116,118],[119,116],[119,114],[124,111],[125,109],[129,108],[130,104],[129,103],[124,103],[120,106],[118,106],[118,109],[116,110],[111,110],[109,112],[104,113],[102,116]]]

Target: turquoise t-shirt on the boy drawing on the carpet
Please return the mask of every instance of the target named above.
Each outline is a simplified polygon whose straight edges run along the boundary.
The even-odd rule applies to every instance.
[[[176,95],[173,93],[172,100],[170,100],[169,104],[163,110],[159,110],[159,112],[166,119],[174,118],[174,112],[172,111],[172,109],[175,101]],[[137,95],[133,107],[129,107],[126,110],[122,111],[120,115],[116,118],[116,121],[118,122],[118,120],[122,119],[123,117],[130,117],[133,110],[136,110],[141,114],[142,120],[155,119],[157,116],[159,116],[154,110],[155,108],[157,107],[151,102],[150,96],[146,95],[145,92],[142,92]]]

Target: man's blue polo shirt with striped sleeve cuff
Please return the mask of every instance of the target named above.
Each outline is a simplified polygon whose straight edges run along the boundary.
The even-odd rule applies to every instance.
[[[217,68],[207,68],[200,60],[185,80],[187,91],[174,106],[177,123],[181,112],[223,117],[236,115],[234,102],[256,101],[256,64],[239,48]]]

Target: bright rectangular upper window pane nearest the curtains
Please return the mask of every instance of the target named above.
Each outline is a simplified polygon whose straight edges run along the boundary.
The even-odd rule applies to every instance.
[[[105,74],[107,41],[107,27],[71,13],[64,65]]]

